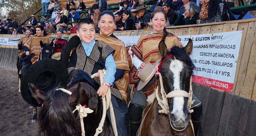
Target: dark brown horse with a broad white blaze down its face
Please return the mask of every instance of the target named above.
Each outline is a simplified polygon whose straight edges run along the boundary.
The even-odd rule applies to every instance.
[[[189,92],[190,77],[194,65],[188,55],[192,52],[193,43],[189,40],[184,48],[174,46],[168,52],[164,41],[159,44],[159,53],[162,56],[162,64],[159,69],[163,86],[158,86],[158,94],[161,97],[160,87],[166,94],[173,90],[185,90]],[[174,61],[174,57],[176,60]],[[178,70],[179,69],[179,70]],[[179,78],[178,78],[179,77]],[[158,83],[160,85],[160,82]],[[169,114],[159,113],[162,108],[157,99],[151,105],[145,107],[142,115],[140,136],[193,136],[193,130],[189,123],[191,114],[187,109],[186,97],[167,98]]]

